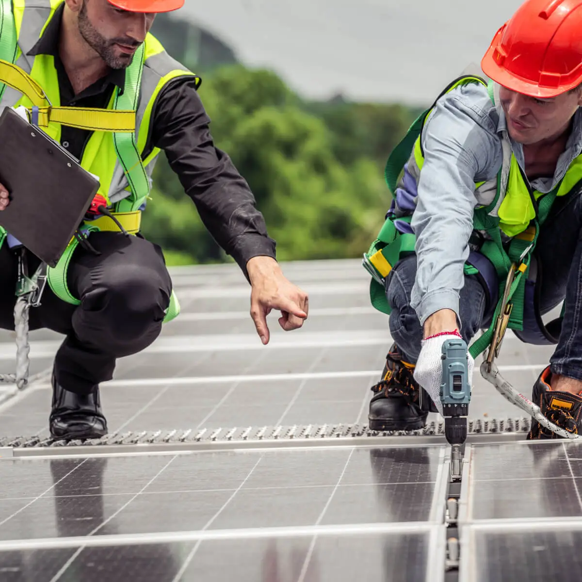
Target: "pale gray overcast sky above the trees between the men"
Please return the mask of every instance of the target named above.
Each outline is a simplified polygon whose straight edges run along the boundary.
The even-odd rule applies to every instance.
[[[432,102],[520,0],[186,0],[181,13],[308,97]]]

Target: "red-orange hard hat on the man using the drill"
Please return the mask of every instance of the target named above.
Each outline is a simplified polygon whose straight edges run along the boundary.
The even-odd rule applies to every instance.
[[[527,0],[497,31],[483,72],[512,91],[555,97],[582,83],[582,0]]]

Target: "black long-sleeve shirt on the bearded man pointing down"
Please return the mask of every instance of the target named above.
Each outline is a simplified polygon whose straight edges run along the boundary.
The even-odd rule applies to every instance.
[[[107,108],[115,87],[123,90],[125,86],[125,70],[111,70],[75,95],[59,56],[63,9],[64,4],[27,54],[54,56],[63,107]],[[193,77],[174,79],[158,95],[144,157],[154,147],[165,152],[211,236],[247,276],[245,265],[251,258],[258,255],[275,258],[275,241],[267,234],[264,218],[246,180],[228,154],[215,147],[209,124]],[[90,136],[88,130],[63,125],[61,144],[80,160]]]

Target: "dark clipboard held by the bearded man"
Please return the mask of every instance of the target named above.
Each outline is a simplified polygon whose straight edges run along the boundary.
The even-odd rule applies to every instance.
[[[0,183],[10,195],[0,226],[55,267],[97,194],[98,180],[45,132],[5,107]]]

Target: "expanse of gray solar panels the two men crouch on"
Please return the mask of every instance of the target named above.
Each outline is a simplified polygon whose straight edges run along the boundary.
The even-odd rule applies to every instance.
[[[284,333],[272,314],[267,347],[237,267],[173,271],[182,315],[102,386],[100,441],[49,439],[48,384],[0,391],[0,580],[513,582],[582,566],[579,442],[527,443],[529,420],[476,375],[450,482],[436,416],[368,430],[390,337],[359,261],[283,267],[310,318]],[[33,338],[34,373],[60,338]],[[499,368],[527,394],[550,353],[508,336]]]

